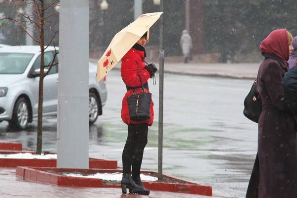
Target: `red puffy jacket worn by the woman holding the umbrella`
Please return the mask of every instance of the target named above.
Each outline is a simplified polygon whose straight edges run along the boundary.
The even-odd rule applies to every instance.
[[[129,87],[139,87],[141,86],[139,76],[141,77],[141,80],[143,84],[145,84],[149,79],[149,73],[148,70],[144,69],[145,67],[145,53],[144,51],[139,51],[136,49],[129,49],[129,51],[124,55],[122,58],[122,64],[121,64],[121,76],[124,81],[124,83]],[[138,76],[139,75],[139,76]],[[149,91],[145,89],[147,93]],[[139,94],[142,92],[142,88],[136,89],[136,94]],[[128,90],[123,98],[122,101],[122,110],[121,110],[121,117],[124,123],[128,124],[139,124],[139,123],[148,123],[149,126],[152,125],[153,122],[153,109],[152,109],[152,100],[150,101],[150,109],[149,109],[149,115],[150,118],[145,121],[141,122],[134,122],[130,120],[129,117],[129,110],[128,110],[128,104],[127,104],[127,97],[131,96],[133,93],[133,89]]]

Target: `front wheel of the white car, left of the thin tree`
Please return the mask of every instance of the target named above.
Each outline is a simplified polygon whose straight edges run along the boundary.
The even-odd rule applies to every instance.
[[[29,109],[28,101],[24,98],[19,98],[16,100],[13,112],[12,119],[9,124],[18,129],[25,129],[29,121]]]

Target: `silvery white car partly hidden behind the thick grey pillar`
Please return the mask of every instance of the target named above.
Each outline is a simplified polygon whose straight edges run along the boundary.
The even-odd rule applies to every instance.
[[[54,52],[53,47],[46,49],[46,65],[53,59]],[[39,46],[0,48],[0,122],[7,120],[11,126],[25,129],[33,117],[37,117],[40,57]],[[102,114],[107,99],[106,79],[96,83],[96,71],[97,66],[89,63],[90,124]],[[58,65],[53,66],[44,78],[43,97],[43,115],[56,115]]]

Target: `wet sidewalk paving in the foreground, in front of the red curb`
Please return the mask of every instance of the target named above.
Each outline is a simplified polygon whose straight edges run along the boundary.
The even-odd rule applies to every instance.
[[[150,191],[149,196],[122,194],[120,188],[71,188],[23,181],[15,168],[0,168],[0,198],[222,198]]]

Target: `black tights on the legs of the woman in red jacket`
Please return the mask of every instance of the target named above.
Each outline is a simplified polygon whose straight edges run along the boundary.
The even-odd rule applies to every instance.
[[[144,155],[144,149],[148,143],[148,124],[129,124],[128,137],[123,150],[123,173],[140,175],[140,167]]]

